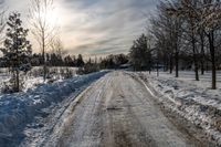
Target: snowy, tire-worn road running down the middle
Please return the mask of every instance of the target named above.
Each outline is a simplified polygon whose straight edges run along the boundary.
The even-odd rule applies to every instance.
[[[66,109],[45,147],[187,147],[190,140],[164,115],[146,87],[124,72],[112,72]]]

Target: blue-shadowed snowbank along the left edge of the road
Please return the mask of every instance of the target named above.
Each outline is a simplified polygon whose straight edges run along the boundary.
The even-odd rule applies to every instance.
[[[25,93],[0,95],[0,145],[21,137],[28,123],[38,115],[44,115],[43,108],[63,101],[106,73],[103,71],[75,76],[53,84],[42,84]]]

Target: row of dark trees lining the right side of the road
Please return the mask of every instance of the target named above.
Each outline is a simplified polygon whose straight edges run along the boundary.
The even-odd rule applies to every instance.
[[[148,33],[130,49],[131,63],[136,69],[164,64],[165,71],[175,70],[176,77],[179,70],[193,69],[196,81],[200,73],[210,70],[211,87],[217,88],[217,70],[221,65],[220,10],[220,0],[160,1],[149,19]]]

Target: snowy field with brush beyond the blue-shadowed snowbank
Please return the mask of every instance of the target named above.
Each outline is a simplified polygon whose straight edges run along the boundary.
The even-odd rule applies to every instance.
[[[67,67],[73,76],[76,76],[76,67]],[[51,77],[45,81],[53,82],[57,80],[63,80],[66,72],[66,67],[50,67]],[[4,83],[10,80],[10,74],[8,69],[0,69],[0,93],[3,88]],[[42,67],[33,67],[27,75],[23,76],[23,92],[27,92],[29,88],[34,88],[38,85],[43,83],[43,71]]]

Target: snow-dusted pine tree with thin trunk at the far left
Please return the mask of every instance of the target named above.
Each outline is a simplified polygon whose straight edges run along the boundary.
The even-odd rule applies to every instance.
[[[32,48],[27,40],[29,30],[23,29],[21,14],[13,12],[7,21],[7,36],[4,40],[3,61],[13,73],[13,90],[20,91],[20,72],[27,73],[31,70]]]

